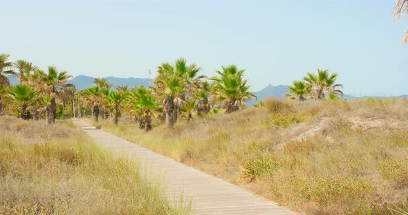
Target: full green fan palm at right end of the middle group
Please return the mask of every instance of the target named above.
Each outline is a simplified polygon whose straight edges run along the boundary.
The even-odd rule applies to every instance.
[[[219,76],[215,81],[214,99],[225,105],[226,112],[234,112],[245,105],[245,101],[256,96],[249,92],[248,80],[242,79],[244,70],[238,70],[236,65],[223,67],[223,71],[216,71]]]

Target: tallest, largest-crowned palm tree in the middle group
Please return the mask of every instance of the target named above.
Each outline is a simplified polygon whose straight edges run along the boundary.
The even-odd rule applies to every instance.
[[[187,65],[185,59],[177,59],[174,65],[162,63],[158,67],[158,76],[155,79],[156,93],[163,99],[163,111],[167,127],[174,127],[177,122],[180,106],[186,105],[186,96],[191,94],[194,82],[204,76],[197,76],[201,68],[192,63]]]

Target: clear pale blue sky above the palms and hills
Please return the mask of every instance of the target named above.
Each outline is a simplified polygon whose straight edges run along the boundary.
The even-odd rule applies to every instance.
[[[152,77],[184,57],[245,70],[252,91],[317,68],[354,96],[408,94],[407,17],[384,0],[0,0],[0,53],[73,76]]]

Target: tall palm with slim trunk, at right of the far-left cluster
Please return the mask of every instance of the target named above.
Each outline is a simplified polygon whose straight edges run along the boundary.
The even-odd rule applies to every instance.
[[[44,92],[50,97],[50,105],[46,108],[48,124],[55,123],[57,111],[56,98],[59,90],[66,85],[66,80],[71,77],[66,71],[59,72],[55,66],[48,66],[48,73],[41,70],[38,72],[39,79],[44,83]]]

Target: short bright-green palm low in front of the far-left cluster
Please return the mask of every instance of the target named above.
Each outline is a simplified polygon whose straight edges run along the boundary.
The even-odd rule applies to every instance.
[[[17,105],[19,108],[17,112],[21,119],[29,120],[30,112],[28,107],[35,105],[35,98],[38,94],[39,92],[30,85],[15,85],[8,89],[7,101],[12,105]]]

